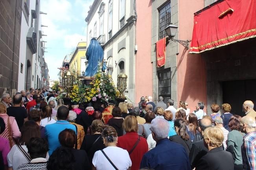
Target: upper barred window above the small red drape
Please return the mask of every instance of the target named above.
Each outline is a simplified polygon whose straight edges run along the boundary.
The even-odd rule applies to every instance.
[[[165,28],[171,24],[171,2],[159,10],[159,40],[166,36]]]

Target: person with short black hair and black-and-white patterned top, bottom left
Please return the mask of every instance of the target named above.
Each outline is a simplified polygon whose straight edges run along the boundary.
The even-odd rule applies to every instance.
[[[46,139],[32,137],[27,147],[31,161],[18,166],[17,170],[45,170],[47,165],[46,155],[48,152]]]

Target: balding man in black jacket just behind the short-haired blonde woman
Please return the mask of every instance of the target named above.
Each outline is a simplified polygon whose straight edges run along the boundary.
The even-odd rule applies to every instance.
[[[210,121],[210,119],[203,118],[201,119],[201,121],[199,121],[198,125],[198,130],[203,136],[204,130],[208,127],[212,127],[212,122]],[[197,168],[197,165],[199,165],[199,159],[201,159],[201,157],[207,154],[207,152],[208,149],[204,146],[204,139],[192,143],[192,147],[189,154],[192,169]]]

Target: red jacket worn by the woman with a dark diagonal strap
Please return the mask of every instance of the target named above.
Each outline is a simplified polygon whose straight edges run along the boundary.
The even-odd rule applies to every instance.
[[[117,146],[126,149],[128,152],[133,148],[138,140],[137,132],[127,132],[125,135],[118,137]],[[133,152],[130,154],[132,161],[131,170],[140,169],[140,162],[143,155],[148,151],[147,140],[144,137],[140,137],[140,141]]]

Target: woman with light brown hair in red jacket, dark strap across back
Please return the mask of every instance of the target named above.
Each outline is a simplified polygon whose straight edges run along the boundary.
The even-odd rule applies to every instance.
[[[129,152],[132,161],[131,170],[138,170],[143,155],[148,151],[147,141],[144,137],[138,136],[138,122],[135,116],[125,117],[123,130],[126,134],[118,137],[117,146]]]

